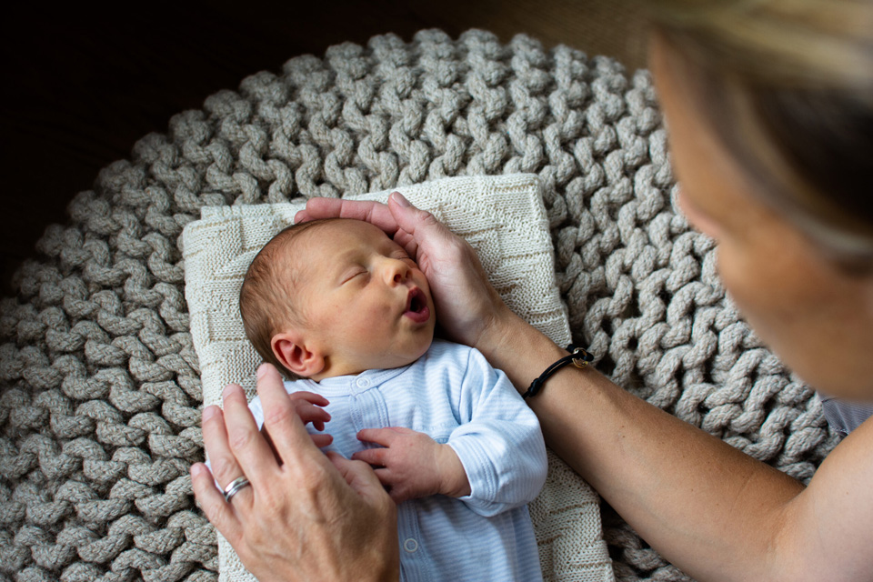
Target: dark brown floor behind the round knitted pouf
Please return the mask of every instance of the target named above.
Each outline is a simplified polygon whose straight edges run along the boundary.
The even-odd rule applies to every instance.
[[[547,47],[645,65],[643,23],[611,0],[329,0],[296,2],[17,3],[0,25],[0,292],[33,254],[45,226],[97,171],[135,141],[166,131],[170,116],[246,75],[278,71],[291,56],[323,55],[343,41],[394,32],[411,39],[438,27],[457,37],[486,28],[506,42],[519,32]]]

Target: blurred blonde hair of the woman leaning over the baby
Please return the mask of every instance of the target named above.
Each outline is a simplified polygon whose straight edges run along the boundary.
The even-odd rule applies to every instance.
[[[873,270],[873,0],[650,0],[701,111],[760,196]]]

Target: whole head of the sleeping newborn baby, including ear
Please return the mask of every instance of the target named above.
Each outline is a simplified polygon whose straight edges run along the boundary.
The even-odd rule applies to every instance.
[[[436,324],[427,279],[403,247],[343,218],[270,240],[248,267],[239,309],[265,361],[315,380],[411,364]]]

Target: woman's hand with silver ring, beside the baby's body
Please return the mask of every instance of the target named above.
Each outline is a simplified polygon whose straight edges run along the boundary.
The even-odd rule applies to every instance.
[[[257,392],[274,450],[257,430],[241,387],[225,411],[207,406],[203,439],[215,478],[246,477],[230,501],[206,466],[191,467],[206,517],[259,580],[396,580],[396,506],[363,461],[326,456],[296,415],[276,368],[258,369]]]

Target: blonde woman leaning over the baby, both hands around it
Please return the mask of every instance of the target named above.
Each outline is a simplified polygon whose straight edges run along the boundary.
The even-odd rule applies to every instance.
[[[662,4],[651,68],[679,205],[717,240],[722,280],[768,346],[828,395],[873,402],[873,5]],[[447,331],[516,386],[567,354],[507,309],[469,246],[402,196],[387,207],[314,199],[299,218],[323,216],[394,234],[426,270]],[[206,516],[262,580],[396,579],[395,510],[372,470],[321,455],[275,369],[259,374],[285,466],[228,386],[224,415],[204,412],[206,449],[252,487],[227,503],[193,467]],[[804,487],[594,370],[564,368],[528,402],[547,444],[687,574],[873,579],[863,406],[828,401],[829,417],[860,426]]]

